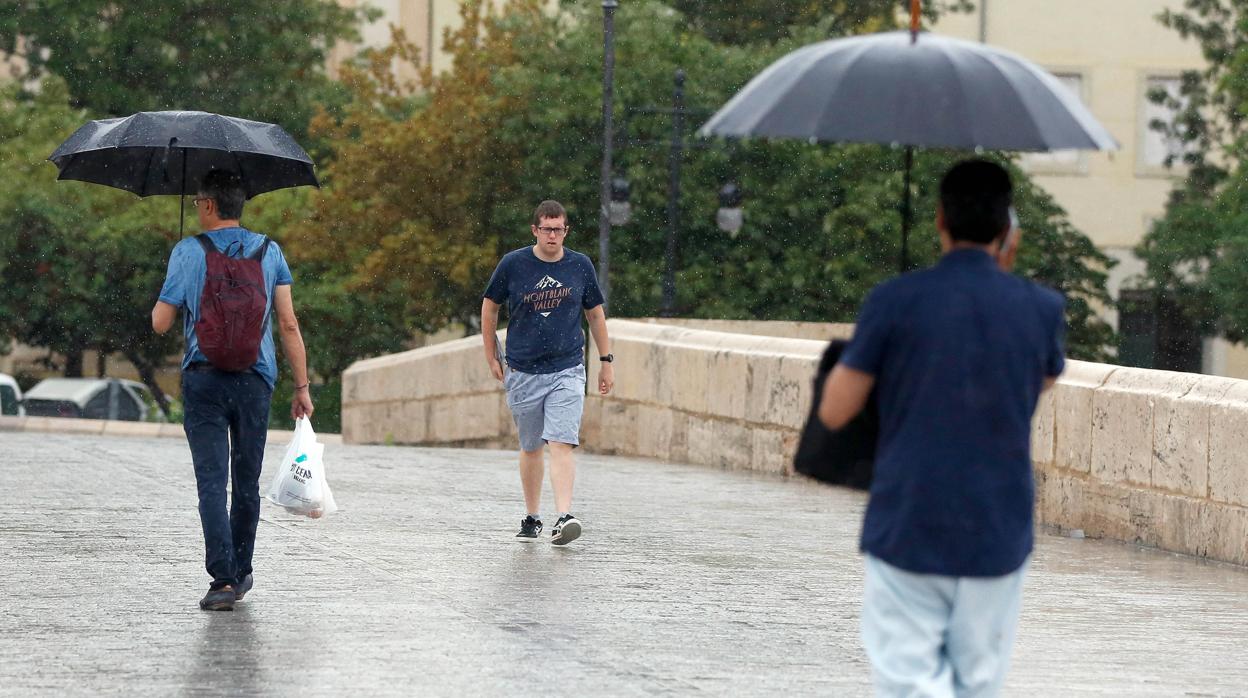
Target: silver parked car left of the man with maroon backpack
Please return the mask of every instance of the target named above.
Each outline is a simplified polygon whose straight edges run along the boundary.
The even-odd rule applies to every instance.
[[[46,378],[21,405],[30,417],[166,421],[147,386],[125,378]]]

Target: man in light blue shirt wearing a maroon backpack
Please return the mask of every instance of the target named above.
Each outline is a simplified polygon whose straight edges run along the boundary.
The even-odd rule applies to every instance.
[[[182,427],[195,463],[212,577],[200,601],[205,611],[232,611],[252,587],[260,471],[277,382],[275,311],[295,376],[291,416],[312,416],[291,270],[276,242],[240,225],[245,200],[238,175],[212,170],[203,177],[193,201],[203,233],[173,247],[152,308],[152,328],[161,335],[182,310]]]

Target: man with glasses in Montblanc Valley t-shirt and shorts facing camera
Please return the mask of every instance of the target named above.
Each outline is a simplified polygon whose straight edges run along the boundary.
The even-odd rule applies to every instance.
[[[520,437],[520,484],[527,516],[520,522],[520,541],[535,541],[542,533],[543,445],[550,447],[550,487],[558,519],[550,542],[565,546],[580,537],[582,527],[572,516],[572,487],[577,466],[572,451],[580,441],[580,417],[585,407],[585,333],[580,316],[598,347],[602,370],[598,391],[615,385],[614,357],[607,337],[603,293],[589,257],[563,246],[568,236],[568,212],[558,201],[543,201],[530,226],[535,243],[508,252],[485,287],[480,303],[485,361],[495,380],[507,390]],[[498,308],[507,303],[507,367],[499,361]]]

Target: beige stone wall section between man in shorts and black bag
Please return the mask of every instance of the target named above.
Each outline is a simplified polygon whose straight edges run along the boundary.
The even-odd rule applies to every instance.
[[[825,342],[619,320],[609,332],[617,383],[597,395],[599,362],[589,362],[587,448],[791,471]]]

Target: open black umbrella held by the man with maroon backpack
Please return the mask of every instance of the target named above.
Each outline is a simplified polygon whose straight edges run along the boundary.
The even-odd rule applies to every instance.
[[[237,172],[247,199],[319,186],[312,159],[281,126],[203,111],[142,111],[90,121],[49,157],[59,180],[139,196],[195,194],[208,170]],[[185,199],[183,199],[185,207]]]

